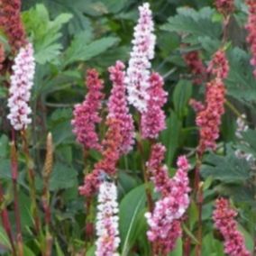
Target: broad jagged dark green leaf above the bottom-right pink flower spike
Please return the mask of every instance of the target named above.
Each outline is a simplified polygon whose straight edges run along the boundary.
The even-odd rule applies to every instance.
[[[250,166],[246,160],[237,159],[234,151],[228,146],[226,156],[210,153],[201,173],[204,178],[212,176],[224,183],[240,183],[250,178]]]

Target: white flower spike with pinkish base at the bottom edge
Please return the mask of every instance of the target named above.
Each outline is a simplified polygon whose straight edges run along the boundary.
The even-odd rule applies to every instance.
[[[104,181],[99,187],[96,215],[96,256],[117,256],[120,243],[118,231],[117,189]]]

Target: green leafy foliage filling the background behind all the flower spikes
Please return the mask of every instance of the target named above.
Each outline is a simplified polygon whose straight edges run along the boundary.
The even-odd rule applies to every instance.
[[[200,50],[202,59],[207,63],[221,46],[223,16],[216,12],[210,0],[150,2],[158,38],[152,66],[165,78],[165,89],[169,92],[168,104],[165,106],[167,129],[161,133],[160,141],[167,147],[166,163],[170,175],[173,175],[172,167],[178,154],[188,154],[192,165],[195,163],[198,133],[195,114],[188,100],[191,97],[203,99],[204,96],[203,87],[192,84],[193,78],[183,54]],[[78,195],[78,185],[83,182],[85,169],[82,148],[76,142],[70,125],[73,105],[81,102],[87,93],[84,77],[89,68],[99,70],[105,79],[105,93],[109,94],[111,84],[107,67],[117,59],[129,59],[133,26],[138,18],[137,7],[140,4],[142,1],[133,0],[23,1],[23,23],[34,45],[37,62],[31,102],[33,121],[29,136],[37,171],[38,195],[41,195],[41,169],[48,132],[53,135],[55,148],[50,178],[52,232],[56,235],[54,255],[71,255],[74,251],[84,249],[86,209],[84,198]],[[247,144],[239,142],[234,135],[237,116],[233,109],[226,106],[217,151],[205,156],[202,169],[205,181],[203,255],[207,256],[224,255],[223,244],[215,233],[211,219],[214,200],[219,195],[232,198],[239,211],[240,229],[249,249],[252,249],[256,232],[255,170],[251,170],[246,160],[239,160],[234,155],[236,148],[241,148],[256,158],[256,80],[252,76],[250,51],[245,42],[247,9],[242,0],[235,1],[235,5],[226,45],[231,71],[225,85],[228,101],[241,113],[247,114],[251,130],[243,133]],[[0,40],[9,49],[3,34],[0,34]],[[5,79],[0,77],[0,82]],[[5,183],[6,202],[13,213],[6,96],[6,88],[0,87],[0,178]],[[102,131],[105,131],[105,127],[102,127]],[[144,146],[149,147],[146,142]],[[143,217],[146,206],[140,158],[140,153],[133,151],[123,157],[118,166],[120,251],[123,256],[146,256],[150,250],[145,234],[147,224]],[[98,159],[99,155],[90,151],[87,169],[91,169]],[[23,153],[19,154],[19,163],[25,255],[38,255],[37,243],[30,232],[32,216],[28,187],[24,181]],[[193,203],[188,215],[189,226],[185,226],[184,230],[196,243],[192,233],[197,228],[197,207]],[[5,252],[5,246],[9,245],[0,227],[0,252]],[[94,255],[93,251],[94,246],[87,255]],[[169,255],[182,255],[181,241]]]

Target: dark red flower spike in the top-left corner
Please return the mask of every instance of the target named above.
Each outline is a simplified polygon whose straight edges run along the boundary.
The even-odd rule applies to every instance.
[[[0,28],[6,33],[14,50],[19,50],[27,44],[21,19],[21,0],[0,1]]]

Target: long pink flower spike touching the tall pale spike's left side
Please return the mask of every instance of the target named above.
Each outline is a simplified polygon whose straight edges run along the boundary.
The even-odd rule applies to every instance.
[[[134,125],[133,116],[129,114],[129,108],[126,101],[126,88],[124,85],[125,74],[123,62],[116,61],[114,67],[110,67],[110,79],[113,82],[111,96],[108,101],[108,116],[120,120],[120,129],[123,134],[123,142],[121,146],[121,153],[128,153],[133,148],[134,143]]]

